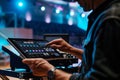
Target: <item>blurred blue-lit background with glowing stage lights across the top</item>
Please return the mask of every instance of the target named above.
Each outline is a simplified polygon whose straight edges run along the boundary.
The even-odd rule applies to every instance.
[[[25,5],[23,7],[18,6],[18,1],[23,1]],[[51,18],[53,22],[67,23],[70,25],[76,24],[86,29],[88,14],[86,13],[86,17],[82,18],[81,14],[84,12],[83,7],[77,2],[71,1],[72,0],[1,0],[0,6],[5,15],[7,15],[6,18],[10,19],[7,23],[16,19],[16,16],[18,17],[17,19],[25,19],[28,14],[32,16],[32,20],[35,21],[45,21],[45,19],[49,21]],[[82,3],[85,4],[85,2]],[[42,11],[42,7],[46,10]]]

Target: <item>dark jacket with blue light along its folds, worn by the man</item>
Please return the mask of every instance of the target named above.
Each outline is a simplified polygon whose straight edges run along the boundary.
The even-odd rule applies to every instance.
[[[120,0],[107,0],[89,16],[81,72],[70,80],[120,80]]]

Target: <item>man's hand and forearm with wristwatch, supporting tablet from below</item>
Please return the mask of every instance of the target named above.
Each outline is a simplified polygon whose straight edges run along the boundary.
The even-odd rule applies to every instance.
[[[48,76],[48,71],[54,68],[48,61],[42,58],[24,59],[23,63],[27,64],[35,76]],[[54,71],[55,80],[69,80],[72,74],[56,69]]]

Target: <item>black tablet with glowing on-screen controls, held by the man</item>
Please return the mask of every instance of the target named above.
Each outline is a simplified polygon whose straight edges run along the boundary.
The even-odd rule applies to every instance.
[[[25,58],[63,58],[56,49],[46,46],[48,41],[43,39],[8,38],[8,42]]]

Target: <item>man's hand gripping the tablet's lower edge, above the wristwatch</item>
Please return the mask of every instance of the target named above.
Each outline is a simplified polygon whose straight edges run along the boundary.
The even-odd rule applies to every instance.
[[[54,68],[48,61],[43,58],[27,58],[23,60],[27,64],[35,76],[47,76],[50,69]]]

